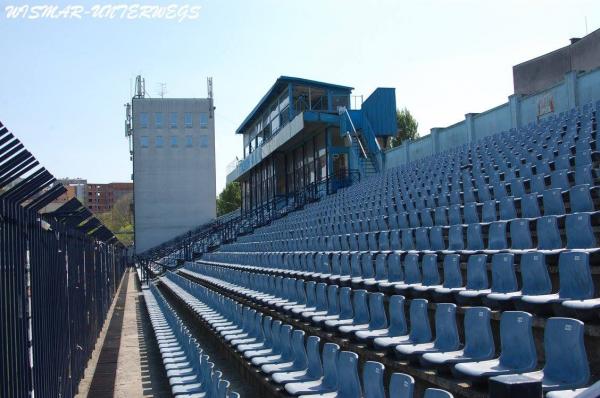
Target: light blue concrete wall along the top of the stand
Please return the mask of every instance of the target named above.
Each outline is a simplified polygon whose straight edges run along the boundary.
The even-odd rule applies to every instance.
[[[507,103],[482,113],[468,113],[458,123],[433,128],[418,140],[386,151],[385,167],[397,167],[599,100],[600,68],[585,73],[569,72],[559,84],[546,90],[530,96],[511,95]]]

